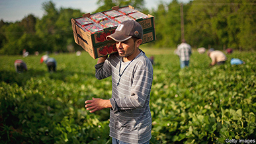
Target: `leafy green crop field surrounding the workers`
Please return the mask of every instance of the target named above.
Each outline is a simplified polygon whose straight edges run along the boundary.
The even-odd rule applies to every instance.
[[[142,48],[155,57],[150,108],[150,143],[256,143],[256,52],[227,55],[224,65],[210,67],[210,58],[191,56],[180,69],[172,49]],[[95,78],[93,59],[83,51],[50,54],[56,73],[48,73],[41,55],[0,56],[0,143],[111,143],[109,109],[93,114],[85,100],[110,98],[111,78]],[[244,65],[230,65],[239,58]],[[22,59],[28,71],[16,73]]]

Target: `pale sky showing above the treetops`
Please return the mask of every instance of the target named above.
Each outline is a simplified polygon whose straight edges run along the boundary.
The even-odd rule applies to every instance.
[[[42,3],[50,0],[0,0],[0,20],[5,22],[21,21],[24,17],[32,14],[35,17],[42,18],[44,11]],[[71,8],[80,9],[82,13],[93,13],[99,5],[98,0],[52,0],[56,9]],[[156,9],[160,2],[170,3],[172,0],[144,0],[146,7]],[[188,3],[189,0],[179,0]],[[136,9],[136,7],[135,7]]]

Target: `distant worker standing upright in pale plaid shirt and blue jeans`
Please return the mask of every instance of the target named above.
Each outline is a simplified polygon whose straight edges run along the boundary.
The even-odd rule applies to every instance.
[[[189,59],[191,57],[192,51],[191,46],[186,43],[186,40],[181,40],[181,44],[178,45],[177,50],[175,51],[179,55],[179,61],[181,69],[184,67],[189,67]]]

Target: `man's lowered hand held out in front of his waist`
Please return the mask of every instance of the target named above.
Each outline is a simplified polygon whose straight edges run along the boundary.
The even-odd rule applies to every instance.
[[[85,101],[86,110],[90,110],[89,112],[93,113],[97,110],[102,110],[103,108],[112,108],[110,100],[103,100],[101,98],[93,98],[93,100]]]

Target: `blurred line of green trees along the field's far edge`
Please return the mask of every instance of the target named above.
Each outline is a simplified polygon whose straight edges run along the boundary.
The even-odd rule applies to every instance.
[[[223,50],[256,50],[255,0],[194,0],[189,3],[161,2],[157,9],[147,9],[144,0],[98,0],[97,13],[119,5],[132,5],[142,13],[155,17],[157,40],[146,46],[176,48],[181,43],[181,6],[183,6],[184,37],[193,48]],[[52,1],[42,3],[44,15],[30,14],[17,22],[0,21],[0,54],[34,52],[74,52],[82,50],[75,44],[71,18],[81,17],[79,9],[60,8]]]

